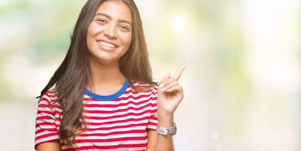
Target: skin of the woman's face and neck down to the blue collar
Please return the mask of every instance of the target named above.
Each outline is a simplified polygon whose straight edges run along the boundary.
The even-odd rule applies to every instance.
[[[118,60],[131,42],[131,20],[128,6],[118,0],[104,1],[95,13],[87,33],[91,66],[91,79],[87,87],[97,94],[112,94],[124,82]],[[108,47],[97,42],[99,40],[114,43],[117,47],[108,50]]]

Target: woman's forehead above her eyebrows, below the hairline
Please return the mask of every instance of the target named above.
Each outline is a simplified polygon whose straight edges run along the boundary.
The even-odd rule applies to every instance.
[[[126,19],[131,21],[131,12],[129,7],[121,0],[105,0],[100,4],[96,13],[105,13],[112,18]]]

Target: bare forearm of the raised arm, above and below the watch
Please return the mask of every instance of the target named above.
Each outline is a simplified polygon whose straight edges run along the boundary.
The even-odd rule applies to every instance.
[[[173,115],[158,116],[159,127],[173,127],[174,117]],[[158,134],[156,151],[173,151],[173,135]]]

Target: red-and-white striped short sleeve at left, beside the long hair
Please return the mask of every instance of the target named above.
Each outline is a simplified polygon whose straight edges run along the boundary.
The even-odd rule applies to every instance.
[[[50,98],[54,95],[46,93],[42,96],[38,103],[38,111],[36,118],[36,132],[35,132],[35,149],[38,144],[59,140],[58,131],[56,128],[55,116],[50,104]]]

